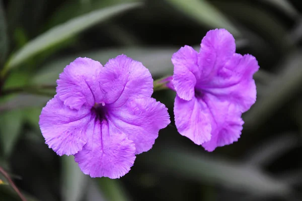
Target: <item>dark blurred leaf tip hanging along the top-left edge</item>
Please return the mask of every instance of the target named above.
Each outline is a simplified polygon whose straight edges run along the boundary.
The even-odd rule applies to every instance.
[[[9,38],[7,35],[7,23],[5,19],[5,13],[3,9],[3,3],[0,2],[0,64],[2,64],[8,53]]]

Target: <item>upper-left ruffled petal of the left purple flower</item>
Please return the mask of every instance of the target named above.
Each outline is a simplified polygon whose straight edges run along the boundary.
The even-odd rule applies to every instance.
[[[98,61],[86,57],[75,59],[64,68],[57,80],[59,98],[71,109],[80,110],[84,104],[94,106],[102,99],[98,81],[101,69],[102,64]],[[96,97],[94,94],[97,94]]]

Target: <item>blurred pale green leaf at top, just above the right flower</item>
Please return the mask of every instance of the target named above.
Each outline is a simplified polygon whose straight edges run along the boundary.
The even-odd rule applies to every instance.
[[[192,17],[196,21],[210,28],[225,28],[234,36],[239,36],[240,31],[220,13],[214,6],[205,0],[166,0],[172,6]]]

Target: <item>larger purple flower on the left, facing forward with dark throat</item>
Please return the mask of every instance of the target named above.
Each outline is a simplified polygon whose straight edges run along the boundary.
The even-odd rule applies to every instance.
[[[74,155],[91,177],[119,178],[152,148],[170,123],[165,105],[151,97],[153,79],[125,55],[103,67],[77,58],[60,74],[57,94],[40,115],[46,144],[58,155]]]

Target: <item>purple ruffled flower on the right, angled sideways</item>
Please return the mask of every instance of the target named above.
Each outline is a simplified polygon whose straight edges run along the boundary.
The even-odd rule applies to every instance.
[[[258,62],[235,49],[232,34],[215,29],[202,39],[199,53],[184,46],[172,57],[176,127],[207,151],[240,138],[241,115],[256,101]]]

